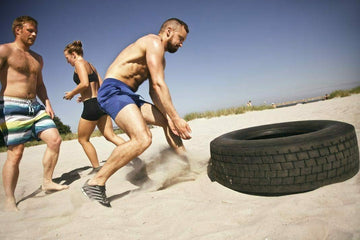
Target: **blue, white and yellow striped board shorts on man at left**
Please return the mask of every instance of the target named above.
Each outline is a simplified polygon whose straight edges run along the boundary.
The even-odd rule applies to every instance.
[[[49,128],[56,125],[36,99],[0,96],[0,131],[6,146],[40,140],[38,134]]]

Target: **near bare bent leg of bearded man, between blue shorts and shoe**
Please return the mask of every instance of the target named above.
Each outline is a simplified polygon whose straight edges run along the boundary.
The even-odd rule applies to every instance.
[[[88,182],[104,186],[121,167],[143,153],[151,144],[151,132],[135,104],[128,104],[116,116],[115,123],[125,131],[130,140],[118,145],[100,171]]]

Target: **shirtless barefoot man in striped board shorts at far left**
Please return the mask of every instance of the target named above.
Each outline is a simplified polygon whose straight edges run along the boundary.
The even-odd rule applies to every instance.
[[[68,188],[52,181],[61,137],[52,120],[55,114],[42,78],[43,59],[30,50],[37,37],[37,21],[29,16],[18,17],[12,30],[15,41],[0,45],[0,130],[8,149],[2,170],[6,210],[18,210],[14,193],[19,164],[24,143],[31,139],[41,139],[47,145],[42,160],[42,189],[58,191]]]

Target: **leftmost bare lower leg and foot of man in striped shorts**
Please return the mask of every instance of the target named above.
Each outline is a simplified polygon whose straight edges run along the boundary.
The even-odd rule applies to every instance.
[[[7,159],[3,167],[3,185],[5,190],[4,209],[18,211],[15,200],[15,188],[19,178],[19,164],[24,152],[24,144],[9,146]]]

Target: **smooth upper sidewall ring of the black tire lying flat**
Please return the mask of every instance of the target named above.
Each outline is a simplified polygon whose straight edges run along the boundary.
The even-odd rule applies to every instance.
[[[288,131],[304,131],[309,132],[294,136],[248,140],[246,138],[252,136],[266,135],[269,132],[286,133]],[[354,131],[354,127],[350,124],[328,121],[328,120],[311,120],[311,121],[295,121],[277,124],[269,124],[258,127],[252,127],[242,130],[233,131],[214,139],[210,143],[211,152],[224,154],[238,154],[244,151],[254,149],[268,148],[284,148],[286,146],[306,146],[321,145],[324,142],[338,138],[339,134]],[[239,137],[240,136],[240,137]]]

